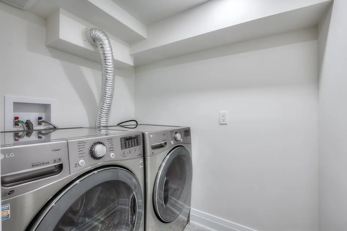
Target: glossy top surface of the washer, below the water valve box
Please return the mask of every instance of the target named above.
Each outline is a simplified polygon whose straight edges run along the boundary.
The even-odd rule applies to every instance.
[[[88,136],[104,136],[117,133],[127,133],[129,130],[119,129],[100,130],[98,128],[58,128],[58,129],[45,129],[45,130],[32,130],[32,131],[10,131],[1,132],[1,146],[34,143],[34,142],[47,142],[52,140],[69,139],[75,137],[88,137]],[[138,131],[134,129],[132,131]]]

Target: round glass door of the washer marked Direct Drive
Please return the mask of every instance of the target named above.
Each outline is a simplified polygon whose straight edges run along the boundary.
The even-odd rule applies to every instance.
[[[31,231],[137,231],[143,198],[128,170],[98,169],[77,179],[46,205]]]

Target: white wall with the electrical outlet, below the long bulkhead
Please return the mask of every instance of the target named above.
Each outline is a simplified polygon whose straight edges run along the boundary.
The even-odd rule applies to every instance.
[[[193,222],[318,230],[316,39],[310,28],[135,68],[138,121],[192,128]]]

